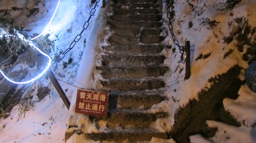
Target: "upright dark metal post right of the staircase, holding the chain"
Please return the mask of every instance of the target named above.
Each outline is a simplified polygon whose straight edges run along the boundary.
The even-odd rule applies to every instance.
[[[191,76],[191,68],[190,68],[190,41],[185,42],[185,50],[186,50],[186,56],[185,56],[185,62],[186,62],[186,74],[185,79],[189,79]]]

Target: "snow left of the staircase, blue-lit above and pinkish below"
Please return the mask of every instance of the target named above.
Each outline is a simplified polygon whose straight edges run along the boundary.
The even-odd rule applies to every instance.
[[[39,34],[44,31],[45,26],[52,17],[57,2],[58,1],[51,0],[45,1],[44,7],[42,5],[35,6],[32,4],[33,2],[25,0],[1,1],[0,9],[10,9],[10,7],[13,6],[26,7],[28,9],[40,7],[39,12],[31,17],[26,16],[27,13],[25,10],[13,12],[13,17],[16,18],[17,25],[19,25],[19,27],[24,27],[28,35],[33,35],[33,33]],[[47,33],[50,34],[49,38],[51,40],[55,40],[55,49],[50,55],[52,58],[54,58],[54,53],[58,54],[59,51],[65,51],[69,48],[73,39],[83,29],[83,24],[88,19],[92,6],[94,6],[94,4],[91,5],[90,2],[85,3],[74,0],[60,2],[56,15],[46,30]],[[78,45],[83,45],[84,38],[90,39],[89,32],[94,24],[92,24],[91,21],[95,19],[97,12],[101,7],[99,6],[96,9],[97,11],[89,21],[88,29],[83,32],[81,40],[76,44],[74,50],[71,50],[66,54],[65,58],[62,60],[67,62],[69,58],[72,58],[71,65],[68,65],[68,68],[65,70],[62,68],[62,62],[57,63],[57,66],[54,66],[54,74],[60,73],[62,75],[62,77],[56,76],[57,78],[69,83],[75,81],[76,70],[79,68],[81,54],[84,50],[83,46],[79,47]],[[85,20],[85,18],[87,19]],[[88,50],[90,50],[90,48],[87,48],[85,51],[87,52]],[[90,56],[90,58],[91,57],[93,58],[93,56]],[[18,66],[19,65],[16,67]],[[15,68],[13,70],[18,69]],[[87,71],[87,73],[89,73],[89,71]],[[25,113],[20,110],[19,104],[14,106],[13,110],[9,113],[10,116],[5,120],[0,121],[1,143],[64,142],[64,136],[67,129],[68,109],[63,104],[61,98],[59,98],[57,91],[49,80],[42,78],[41,80],[34,81],[34,85],[32,86],[33,88],[35,87],[34,89],[36,91],[39,84],[42,86],[48,86],[51,89],[50,95],[46,96],[42,100],[39,100],[38,97],[34,95],[32,99],[33,105],[28,107],[29,111]],[[64,82],[60,82],[60,84],[71,101],[71,95],[73,91],[76,91],[76,88]],[[34,93],[36,93],[36,91],[34,91]],[[80,118],[78,122],[83,122],[84,120],[86,119]]]

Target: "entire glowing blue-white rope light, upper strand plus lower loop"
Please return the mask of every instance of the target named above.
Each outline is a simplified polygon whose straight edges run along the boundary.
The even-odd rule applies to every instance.
[[[46,29],[49,27],[50,23],[52,22],[52,20],[53,20],[55,14],[56,14],[56,11],[57,11],[57,9],[58,9],[58,7],[59,7],[59,4],[60,4],[60,0],[58,1],[58,4],[57,4],[57,6],[56,6],[56,9],[55,9],[55,11],[54,11],[54,13],[53,13],[53,15],[52,15],[52,17],[51,17],[51,20],[50,20],[49,23],[46,25],[44,31],[43,31],[41,34],[39,34],[38,36],[36,36],[36,37],[34,37],[34,38],[31,38],[31,40],[34,40],[34,39],[40,37],[43,33],[45,33]],[[52,60],[51,60],[50,56],[48,56],[47,54],[45,54],[44,52],[42,52],[39,48],[37,48],[37,47],[33,44],[33,42],[32,42],[31,40],[25,39],[25,37],[24,37],[23,35],[19,34],[19,33],[17,33],[17,35],[18,35],[19,38],[21,38],[21,39],[23,39],[25,42],[27,42],[28,45],[34,47],[34,48],[35,48],[36,50],[38,50],[41,54],[45,55],[45,56],[49,59],[49,62],[48,62],[48,64],[47,64],[46,68],[45,68],[37,77],[35,77],[35,78],[33,78],[33,79],[30,79],[30,80],[28,80],[28,81],[24,81],[24,82],[16,82],[16,81],[11,80],[10,78],[8,78],[8,77],[3,73],[3,71],[0,69],[0,73],[1,73],[8,81],[10,81],[10,82],[12,82],[12,83],[16,83],[16,84],[26,84],[26,83],[30,83],[30,82],[32,82],[32,81],[38,79],[39,77],[41,77],[41,76],[49,69],[49,67],[51,66],[51,61],[52,61]],[[3,36],[3,35],[1,35],[1,36]],[[7,35],[7,36],[14,36],[14,35]]]

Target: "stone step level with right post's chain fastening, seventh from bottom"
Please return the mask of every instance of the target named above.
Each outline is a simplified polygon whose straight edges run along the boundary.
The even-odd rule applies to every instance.
[[[164,46],[161,45],[110,45],[103,46],[103,49],[112,52],[113,54],[126,54],[126,55],[148,55],[159,54],[162,52]]]

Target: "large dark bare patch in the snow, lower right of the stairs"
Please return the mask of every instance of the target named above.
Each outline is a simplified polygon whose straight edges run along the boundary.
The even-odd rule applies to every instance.
[[[190,142],[189,136],[202,134],[206,137],[215,135],[216,128],[208,128],[206,120],[215,120],[234,126],[241,126],[229,112],[224,110],[223,99],[236,99],[244,81],[238,75],[241,67],[234,66],[227,73],[209,79],[213,83],[208,90],[202,90],[199,101],[191,100],[175,114],[175,124],[171,137],[178,143]]]

